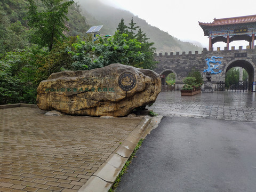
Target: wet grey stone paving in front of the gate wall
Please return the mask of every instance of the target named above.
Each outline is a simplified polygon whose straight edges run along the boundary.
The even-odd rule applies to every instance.
[[[151,107],[163,116],[186,116],[256,122],[256,95],[252,92],[214,92],[182,96],[180,91],[161,92]]]

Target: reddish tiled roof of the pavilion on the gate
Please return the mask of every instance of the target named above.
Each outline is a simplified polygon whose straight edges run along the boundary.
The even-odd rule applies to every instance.
[[[256,22],[256,15],[248,15],[243,17],[215,19],[211,23],[199,22],[200,26],[222,26],[222,25],[234,25],[241,23]]]

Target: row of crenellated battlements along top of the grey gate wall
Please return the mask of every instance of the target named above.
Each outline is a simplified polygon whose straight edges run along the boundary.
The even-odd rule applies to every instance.
[[[218,47],[219,48],[219,47]],[[154,57],[162,57],[162,56],[174,56],[174,55],[197,55],[197,54],[203,54],[203,53],[207,53],[207,52],[223,52],[223,51],[228,51],[228,52],[234,52],[234,51],[247,51],[247,50],[251,50],[251,51],[254,51],[256,52],[256,45],[254,46],[254,49],[243,49],[243,46],[239,46],[239,49],[238,50],[235,50],[235,49],[231,49],[231,50],[228,50],[227,47],[224,47],[224,50],[213,50],[213,47],[210,51],[208,51],[206,48],[203,49],[202,53],[199,53],[199,51],[195,51],[194,54],[192,54],[192,51],[189,51],[188,54],[186,54],[185,51],[183,51],[181,54],[180,52],[176,52],[174,54],[174,52],[171,52],[170,54],[168,54],[167,52],[165,52],[164,54],[163,53],[159,53],[157,55],[157,53],[154,53]]]

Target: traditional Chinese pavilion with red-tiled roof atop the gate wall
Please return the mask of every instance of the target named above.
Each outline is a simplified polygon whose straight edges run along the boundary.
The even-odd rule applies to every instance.
[[[204,30],[204,36],[209,36],[209,50],[216,42],[229,43],[238,40],[250,42],[250,49],[254,49],[254,38],[256,31],[256,15],[215,19],[211,23],[199,22]]]

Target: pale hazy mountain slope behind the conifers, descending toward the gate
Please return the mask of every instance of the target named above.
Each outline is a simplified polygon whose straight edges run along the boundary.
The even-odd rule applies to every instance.
[[[177,38],[168,33],[158,29],[157,27],[149,25],[145,20],[134,16],[131,12],[121,9],[116,9],[105,4],[99,0],[78,1],[81,4],[82,13],[86,18],[86,22],[91,26],[103,25],[101,34],[114,34],[118,23],[124,19],[125,25],[128,26],[133,18],[137,26],[147,34],[150,42],[154,42],[156,52],[182,52],[182,51],[201,51],[202,47],[193,45],[192,43],[179,41]]]

